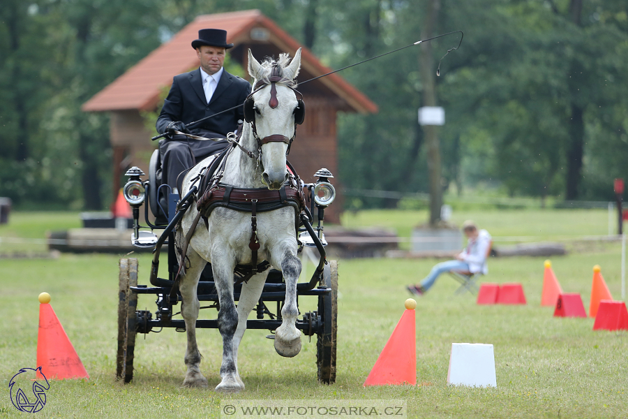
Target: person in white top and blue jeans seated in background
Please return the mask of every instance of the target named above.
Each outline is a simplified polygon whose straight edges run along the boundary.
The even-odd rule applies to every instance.
[[[438,276],[444,272],[461,274],[488,273],[486,256],[491,247],[491,235],[486,230],[478,230],[473,221],[463,223],[463,233],[468,238],[467,247],[456,256],[456,260],[447,260],[436,264],[421,284],[409,285],[408,291],[414,295],[423,295],[434,285]]]

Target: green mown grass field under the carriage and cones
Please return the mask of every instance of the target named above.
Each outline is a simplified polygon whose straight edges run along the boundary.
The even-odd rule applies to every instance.
[[[606,216],[593,213],[590,218],[601,221],[591,226],[583,222],[581,228],[578,220],[569,220],[570,226],[551,234],[569,234],[569,229],[574,234],[576,224],[578,232],[591,231],[583,234],[606,233]],[[505,214],[512,215],[511,219],[500,221],[497,213],[486,221],[479,218],[481,214],[473,218],[486,227],[493,220],[491,233],[503,225],[513,229],[508,234],[534,235],[528,231],[536,228],[532,219],[527,220],[527,230],[507,227],[526,214]],[[545,223],[561,224],[561,217],[565,221],[565,214],[557,215]],[[388,216],[394,218],[394,214]],[[365,224],[364,219],[360,223]],[[25,221],[25,225],[30,224]],[[20,228],[11,228],[16,236],[24,234]],[[3,229],[1,236],[6,235]],[[64,254],[58,259],[0,260],[0,379],[4,388],[20,368],[35,367],[37,295],[42,291],[52,295],[52,307],[91,376],[52,382],[47,404],[38,416],[218,418],[220,399],[403,399],[409,418],[628,417],[628,332],[593,332],[591,318],[553,318],[553,309],[540,307],[543,258],[490,262],[486,281],[521,282],[528,297],[525,306],[478,306],[471,295],[454,296],[454,281],[441,277],[418,300],[416,310],[417,381],[421,385],[378,388],[363,388],[362,383],[403,314],[408,297],[405,285],[424,277],[436,260],[341,260],[336,384],[317,384],[315,339],[308,343],[304,337],[301,353],[287,359],[276,355],[272,341],[264,337],[267,331],[249,330],[239,351],[246,390],[227,396],[181,388],[185,336],[174,330],[151,333],[145,340],[139,335],[133,383],[122,385],[115,380],[118,258]],[[595,264],[601,265],[611,293],[618,298],[619,244],[597,244],[588,251],[553,259],[563,290],[581,293],[587,309]],[[149,265],[149,256],[140,256],[141,283],[147,283]],[[299,303],[301,311],[315,304],[306,297]],[[138,307],[155,306],[151,297],[141,296]],[[202,316],[215,318],[216,311],[202,312]],[[213,387],[220,381],[220,336],[216,330],[200,330],[198,336],[204,356],[201,369]],[[497,388],[447,385],[453,342],[494,345]],[[23,415],[10,404],[8,391],[0,396],[0,417]]]

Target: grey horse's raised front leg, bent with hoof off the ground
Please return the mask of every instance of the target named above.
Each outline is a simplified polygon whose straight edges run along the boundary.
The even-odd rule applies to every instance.
[[[292,249],[294,248],[294,249]],[[293,357],[301,351],[301,332],[297,329],[297,279],[301,274],[301,260],[297,258],[296,243],[294,246],[286,245],[280,260],[273,262],[274,266],[281,266],[283,280],[285,281],[285,302],[281,309],[281,326],[275,331],[275,351],[281,356]],[[277,253],[274,253],[277,254]],[[273,258],[274,259],[274,258]],[[275,265],[278,263],[278,265]]]

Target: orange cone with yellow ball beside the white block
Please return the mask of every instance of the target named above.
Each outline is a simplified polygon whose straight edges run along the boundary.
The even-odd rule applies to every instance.
[[[364,381],[367,385],[417,385],[417,339],[414,308],[417,302],[405,300],[403,312],[390,339]]]

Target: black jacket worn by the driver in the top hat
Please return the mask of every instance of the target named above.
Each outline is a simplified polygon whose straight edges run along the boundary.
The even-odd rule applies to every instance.
[[[170,92],[163,103],[157,119],[158,133],[163,133],[172,121],[185,124],[214,115],[222,110],[242,105],[251,93],[251,84],[244,79],[223,71],[209,104],[205,100],[200,68],[190,73],[174,76]],[[201,124],[190,128],[190,133],[206,138],[225,138],[227,133],[235,131],[238,120],[244,121],[244,108],[239,106]]]

